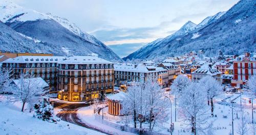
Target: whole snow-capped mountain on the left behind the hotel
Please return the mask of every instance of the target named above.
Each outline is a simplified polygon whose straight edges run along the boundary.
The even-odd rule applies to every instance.
[[[65,18],[3,0],[0,0],[0,13],[1,50],[46,52],[56,56],[96,53],[106,60],[121,61],[108,46]]]

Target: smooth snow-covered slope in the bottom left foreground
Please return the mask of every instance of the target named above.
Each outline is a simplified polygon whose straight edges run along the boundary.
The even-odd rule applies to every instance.
[[[0,134],[103,134],[65,121],[59,121],[57,124],[42,121],[33,118],[33,113],[23,113],[20,110],[20,103],[7,104],[5,96],[0,95]]]

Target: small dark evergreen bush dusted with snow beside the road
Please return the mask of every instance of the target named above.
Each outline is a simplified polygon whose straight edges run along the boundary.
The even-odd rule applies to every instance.
[[[34,109],[34,117],[37,117],[43,121],[57,123],[53,113],[53,106],[51,105],[49,98],[44,98],[39,103],[36,103],[34,105]]]

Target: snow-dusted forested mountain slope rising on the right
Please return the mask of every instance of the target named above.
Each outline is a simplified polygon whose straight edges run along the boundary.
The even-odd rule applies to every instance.
[[[165,58],[199,50],[207,56],[216,55],[219,49],[225,55],[256,52],[255,7],[256,1],[241,0],[198,25],[188,21],[174,34],[146,44],[123,60]]]

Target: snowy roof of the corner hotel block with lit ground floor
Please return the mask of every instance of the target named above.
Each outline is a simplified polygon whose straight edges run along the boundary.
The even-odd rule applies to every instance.
[[[97,56],[73,56],[59,62],[59,64],[113,64]]]

